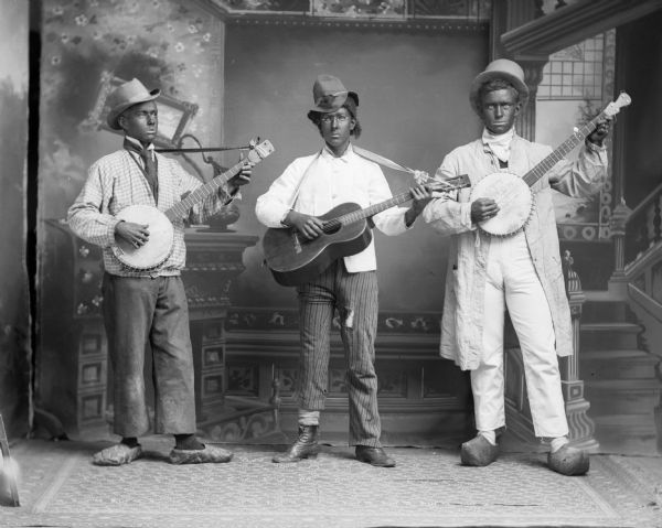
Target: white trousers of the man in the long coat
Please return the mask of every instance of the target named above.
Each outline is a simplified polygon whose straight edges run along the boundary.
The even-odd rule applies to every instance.
[[[535,435],[565,437],[568,424],[552,314],[524,234],[492,238],[487,274],[483,357],[471,371],[477,429],[505,425],[503,325],[508,308],[522,348]]]

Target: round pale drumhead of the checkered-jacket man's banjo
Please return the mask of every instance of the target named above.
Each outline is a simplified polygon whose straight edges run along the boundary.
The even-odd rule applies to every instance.
[[[150,205],[130,205],[121,209],[116,218],[147,224],[149,229],[148,241],[139,248],[125,240],[118,240],[113,246],[113,252],[121,263],[135,270],[150,270],[168,259],[172,252],[174,228],[163,213]]]

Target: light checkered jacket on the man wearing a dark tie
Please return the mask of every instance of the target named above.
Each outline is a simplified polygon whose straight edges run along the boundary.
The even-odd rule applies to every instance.
[[[87,243],[103,248],[104,268],[108,273],[121,277],[178,276],[185,265],[184,218],[175,219],[172,254],[156,271],[129,269],[117,260],[111,250],[115,244],[115,226],[119,222],[115,215],[119,211],[129,205],[151,205],[166,212],[180,202],[182,195],[202,185],[200,180],[184,171],[177,160],[159,153],[154,155],[159,171],[158,205],[140,170],[140,166],[143,166],[140,157],[127,150],[119,150],[105,155],[89,168],[87,181],[68,209],[67,222],[71,229]],[[222,187],[218,194],[212,193],[202,203],[196,204],[188,218],[194,224],[200,224],[206,217],[218,213],[231,200],[227,190]]]

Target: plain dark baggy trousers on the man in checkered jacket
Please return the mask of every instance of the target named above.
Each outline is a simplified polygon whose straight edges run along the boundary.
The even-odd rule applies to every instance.
[[[145,354],[152,354],[154,432],[194,433],[195,394],[189,309],[180,277],[134,278],[106,273],[104,321],[114,369],[114,432],[149,431]]]

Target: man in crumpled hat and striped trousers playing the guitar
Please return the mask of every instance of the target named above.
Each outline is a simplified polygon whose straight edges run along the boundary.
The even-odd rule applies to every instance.
[[[392,197],[380,166],[357,155],[351,138],[359,138],[359,96],[348,91],[331,75],[318,76],[314,106],[308,118],[324,144],[317,153],[296,159],[256,204],[257,218],[267,227],[293,227],[306,238],[322,234],[319,216],[337,205],[353,202],[362,208]],[[412,226],[429,194],[423,186],[412,190],[409,208],[386,209],[372,219],[386,235],[398,235]],[[328,389],[330,332],[334,310],[348,365],[350,445],[356,459],[375,466],[392,467],[395,461],[380,443],[377,378],[374,340],[377,330],[377,278],[374,240],[361,252],[334,261],[322,274],[297,288],[301,355],[298,400],[299,435],[287,453],[274,462],[298,462],[319,452],[320,411]]]

